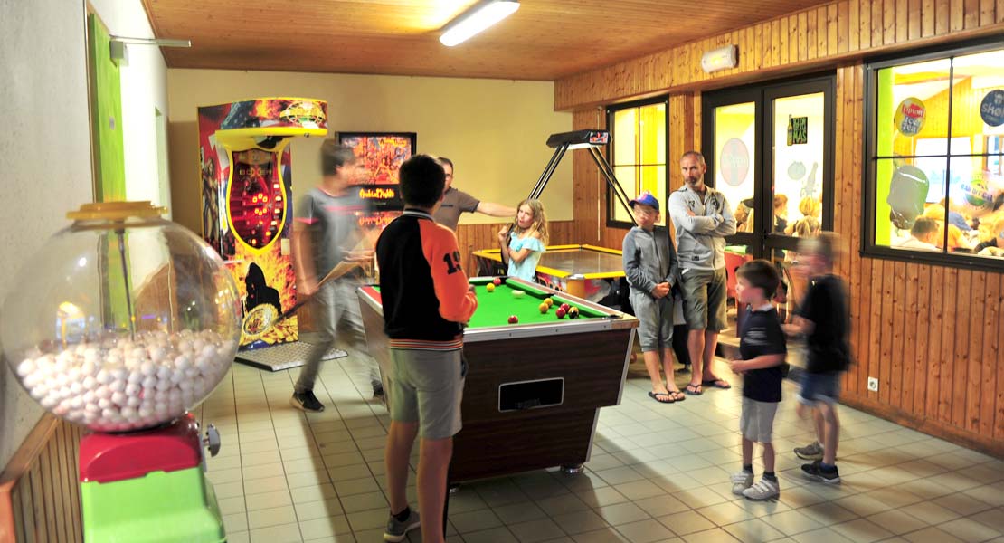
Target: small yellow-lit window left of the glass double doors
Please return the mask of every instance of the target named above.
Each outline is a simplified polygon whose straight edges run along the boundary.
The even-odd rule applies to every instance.
[[[659,200],[663,212],[660,225],[666,225],[668,155],[667,115],[669,100],[634,102],[607,110],[607,125],[612,138],[610,166],[617,183],[629,197],[635,198],[642,191],[651,192]],[[606,189],[607,224],[631,226],[634,224],[628,210]]]

